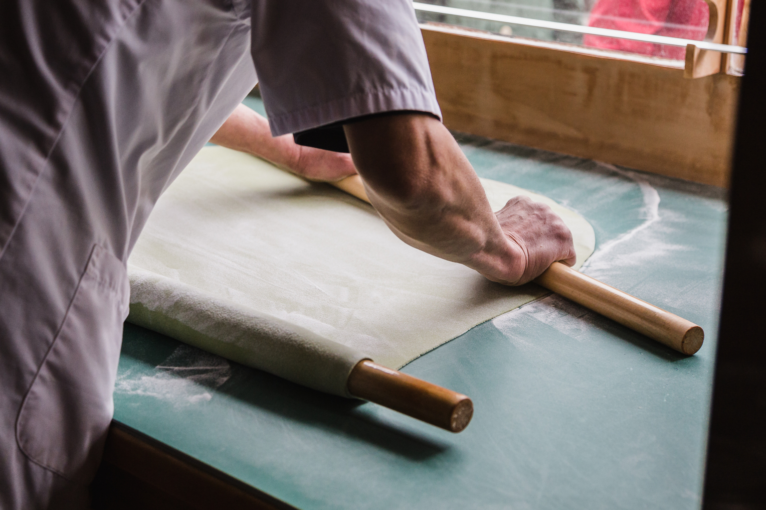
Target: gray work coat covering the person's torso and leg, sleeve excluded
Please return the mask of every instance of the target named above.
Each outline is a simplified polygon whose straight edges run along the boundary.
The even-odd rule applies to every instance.
[[[87,508],[126,259],[256,83],[246,0],[0,5],[0,508]]]

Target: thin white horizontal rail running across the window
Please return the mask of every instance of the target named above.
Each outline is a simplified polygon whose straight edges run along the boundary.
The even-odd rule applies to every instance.
[[[532,18],[521,18],[519,16],[498,15],[493,12],[469,11],[468,9],[446,7],[444,5],[424,4],[421,2],[413,2],[413,5],[416,11],[435,12],[440,15],[463,16],[463,18],[499,21],[500,23],[507,24],[521,24],[525,27],[551,28],[553,30],[576,32],[578,34],[601,35],[602,37],[617,37],[618,39],[629,39],[630,41],[641,41],[654,44],[667,44],[669,46],[686,47],[688,44],[694,44],[701,50],[720,51],[721,53],[748,53],[748,48],[742,46],[733,46],[732,44],[718,44],[708,41],[695,41],[693,39],[681,39],[679,37],[667,37],[665,35],[639,34],[637,32],[612,30],[611,28],[585,27],[579,24],[560,23],[558,21],[545,21]]]

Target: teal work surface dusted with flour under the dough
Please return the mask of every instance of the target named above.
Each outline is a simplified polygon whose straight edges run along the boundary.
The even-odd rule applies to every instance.
[[[459,139],[482,177],[588,219],[584,272],[698,323],[696,356],[548,296],[404,367],[473,399],[472,423],[450,434],[126,324],[116,420],[306,510],[699,508],[722,191]]]

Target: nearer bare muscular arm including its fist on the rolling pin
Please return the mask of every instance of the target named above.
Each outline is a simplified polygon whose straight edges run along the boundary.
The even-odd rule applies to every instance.
[[[368,196],[404,242],[493,281],[523,284],[553,261],[575,262],[571,232],[544,204],[510,200],[493,213],[450,132],[402,113],[345,125]]]

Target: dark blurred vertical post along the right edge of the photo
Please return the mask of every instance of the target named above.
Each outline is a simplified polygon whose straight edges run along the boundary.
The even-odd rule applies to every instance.
[[[703,508],[766,508],[766,4],[752,2]]]

